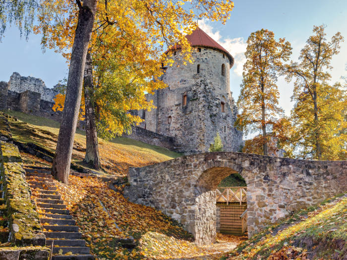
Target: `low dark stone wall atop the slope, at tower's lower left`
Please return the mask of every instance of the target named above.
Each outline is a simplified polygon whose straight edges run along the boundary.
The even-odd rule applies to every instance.
[[[160,135],[137,126],[132,127],[131,134],[124,134],[123,137],[131,138],[150,145],[165,147],[172,151],[177,149],[175,146],[175,139],[173,137]]]

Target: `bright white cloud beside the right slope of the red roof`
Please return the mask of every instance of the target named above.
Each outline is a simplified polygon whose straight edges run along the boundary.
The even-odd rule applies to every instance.
[[[206,23],[206,20],[199,21],[199,27],[207,33],[213,40],[219,43],[234,57],[233,72],[237,76],[242,76],[243,64],[246,62],[244,52],[246,52],[247,44],[243,37],[239,38],[222,38],[219,31],[213,30],[211,25]],[[214,32],[215,31],[215,32]]]

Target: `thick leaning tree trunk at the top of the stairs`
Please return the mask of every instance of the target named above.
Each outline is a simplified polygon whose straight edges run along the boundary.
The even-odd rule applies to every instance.
[[[53,160],[52,174],[63,183],[68,183],[73,140],[81,103],[82,81],[88,43],[92,34],[96,0],[84,0],[79,7],[78,22],[72,46],[66,96],[58,135],[56,155]]]

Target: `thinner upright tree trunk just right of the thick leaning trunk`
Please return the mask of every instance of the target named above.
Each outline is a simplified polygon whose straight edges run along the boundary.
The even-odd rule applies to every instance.
[[[84,162],[96,170],[100,170],[100,156],[98,136],[96,132],[95,120],[95,104],[92,101],[94,87],[93,87],[93,68],[92,59],[90,56],[90,49],[87,53],[86,66],[84,69],[84,101],[86,107],[86,155]]]

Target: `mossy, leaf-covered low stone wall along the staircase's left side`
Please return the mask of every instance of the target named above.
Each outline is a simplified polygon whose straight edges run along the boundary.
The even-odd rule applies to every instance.
[[[18,148],[0,141],[0,176],[9,220],[9,242],[14,246],[45,246],[31,189],[25,180]]]

